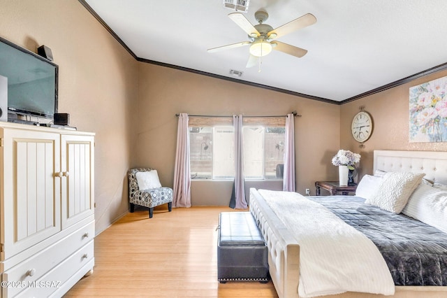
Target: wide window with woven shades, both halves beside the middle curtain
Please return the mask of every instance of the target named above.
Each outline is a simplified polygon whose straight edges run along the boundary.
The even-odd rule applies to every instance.
[[[191,178],[233,179],[233,118],[189,119]],[[285,130],[285,120],[244,120],[242,136],[246,179],[282,178]]]

